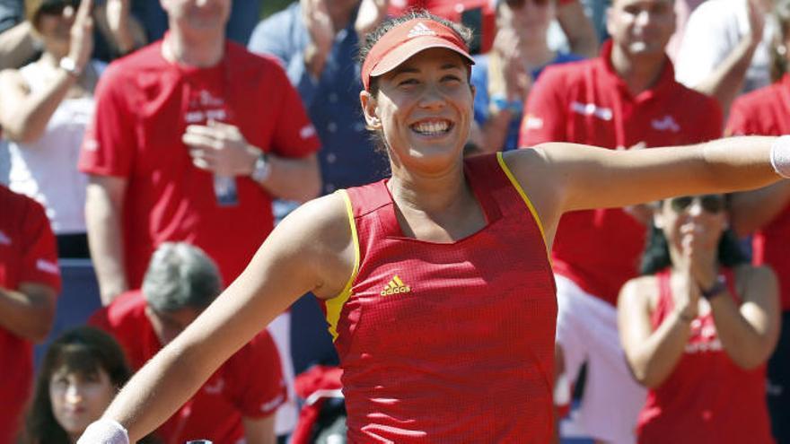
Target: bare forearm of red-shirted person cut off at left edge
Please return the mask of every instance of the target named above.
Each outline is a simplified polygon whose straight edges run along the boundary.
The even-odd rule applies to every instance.
[[[55,289],[21,283],[18,291],[0,287],[0,326],[34,342],[43,341],[55,318]]]

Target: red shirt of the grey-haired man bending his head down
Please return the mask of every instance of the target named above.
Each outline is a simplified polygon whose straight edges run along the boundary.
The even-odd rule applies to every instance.
[[[142,292],[126,292],[88,321],[115,336],[134,370],[162,345],[145,316]],[[277,349],[264,329],[233,354],[156,434],[163,442],[206,439],[234,443],[244,437],[241,418],[264,418],[285,402]]]

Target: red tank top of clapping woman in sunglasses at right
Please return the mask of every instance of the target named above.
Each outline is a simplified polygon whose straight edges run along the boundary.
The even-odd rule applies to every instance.
[[[724,270],[733,299],[732,270]],[[654,330],[672,312],[670,274],[657,274],[659,299],[651,316]],[[727,356],[713,314],[691,321],[691,336],[671,375],[647,392],[639,414],[641,444],[763,444],[774,442],[768,422],[765,365],[742,370]]]

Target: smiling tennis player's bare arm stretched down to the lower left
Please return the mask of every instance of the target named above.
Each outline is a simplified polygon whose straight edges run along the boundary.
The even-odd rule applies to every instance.
[[[311,291],[320,298],[340,293],[353,266],[343,198],[325,196],[298,208],[277,225],[239,278],[136,373],[103,418],[126,427],[132,442],[154,431],[294,300]]]

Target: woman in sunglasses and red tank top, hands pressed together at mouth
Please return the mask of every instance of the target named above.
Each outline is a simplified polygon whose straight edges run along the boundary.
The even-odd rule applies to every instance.
[[[765,363],[777,344],[777,278],[748,265],[723,195],[654,210],[643,276],[619,296],[628,365],[649,388],[640,443],[773,442]]]

